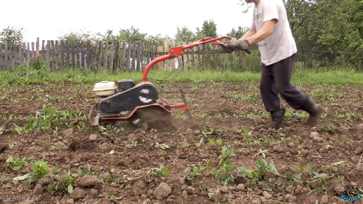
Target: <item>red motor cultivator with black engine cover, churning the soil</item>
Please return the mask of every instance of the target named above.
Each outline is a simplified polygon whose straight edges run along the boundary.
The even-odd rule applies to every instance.
[[[189,106],[184,103],[169,104],[163,99],[159,99],[158,89],[148,82],[148,72],[155,65],[163,60],[177,58],[185,53],[186,49],[201,44],[213,43],[225,48],[225,45],[219,42],[220,39],[230,39],[224,37],[206,37],[192,44],[177,46],[169,49],[167,55],[156,58],[143,69],[143,79],[139,84],[134,84],[131,79],[122,79],[117,82],[103,81],[94,86],[94,94],[98,96],[98,102],[91,108],[89,114],[89,125],[95,126],[106,122],[129,121],[133,125],[140,126],[145,120],[154,120],[155,111],[159,113],[171,113],[172,108],[189,110]],[[184,94],[181,93],[183,98]],[[153,111],[151,111],[153,110]],[[148,112],[150,114],[143,114]],[[145,119],[145,115],[148,118]],[[166,114],[167,115],[167,114]],[[169,114],[170,115],[170,114]]]

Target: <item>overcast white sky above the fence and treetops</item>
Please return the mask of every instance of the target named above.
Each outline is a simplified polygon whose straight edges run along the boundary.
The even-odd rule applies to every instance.
[[[196,32],[214,20],[217,34],[250,27],[252,14],[242,13],[239,0],[12,0],[1,2],[0,30],[23,28],[25,42],[53,40],[69,32],[104,33],[134,28],[148,35],[174,37],[177,27]]]

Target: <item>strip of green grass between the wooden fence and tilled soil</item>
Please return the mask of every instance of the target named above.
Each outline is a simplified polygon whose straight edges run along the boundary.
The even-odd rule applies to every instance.
[[[153,71],[148,74],[149,81],[165,84],[169,82],[233,82],[248,83],[259,82],[260,72],[234,72],[231,70],[177,70],[174,72]],[[2,86],[8,84],[49,84],[51,82],[70,82],[94,84],[103,80],[117,82],[119,79],[132,79],[135,83],[141,82],[141,72],[95,72],[84,68],[65,69],[53,72],[42,68],[19,67],[15,70],[0,72]],[[164,81],[158,81],[165,79]],[[363,73],[352,70],[311,70],[296,69],[291,79],[292,84],[350,84],[362,85]],[[2,87],[1,86],[1,87]]]

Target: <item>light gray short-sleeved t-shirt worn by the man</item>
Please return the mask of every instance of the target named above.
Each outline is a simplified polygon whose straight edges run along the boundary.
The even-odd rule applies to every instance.
[[[261,62],[265,65],[277,63],[298,51],[288,24],[286,9],[281,0],[260,0],[253,11],[251,30],[258,32],[266,21],[273,19],[277,20],[273,34],[258,42]]]

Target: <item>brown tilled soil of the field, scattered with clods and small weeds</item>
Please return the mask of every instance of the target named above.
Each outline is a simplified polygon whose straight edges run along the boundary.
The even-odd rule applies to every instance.
[[[88,117],[94,103],[90,100],[94,98],[92,88],[92,85],[60,83],[1,88],[0,203],[352,203],[343,198],[355,198],[355,203],[359,203],[363,200],[352,193],[363,186],[362,87],[299,85],[299,89],[326,110],[318,125],[307,127],[308,115],[281,101],[281,106],[287,109],[285,127],[267,130],[258,127],[270,118],[257,83],[164,84],[160,97],[178,103],[182,88],[192,117],[173,109],[167,122],[154,121],[155,124],[151,122],[144,129],[133,129],[126,122],[87,127],[88,120],[82,116]],[[44,111],[43,106],[58,111],[70,109],[72,113],[82,111],[82,114],[73,115],[72,120],[60,120],[62,125],[58,129],[52,125],[49,132],[15,131],[16,127],[25,127],[27,117]],[[233,168],[215,177],[210,170],[217,169],[222,149],[232,148],[234,154],[224,161],[233,163]],[[28,163],[20,170],[13,170],[7,167],[9,155],[14,159],[26,158]],[[34,182],[13,181],[32,172],[30,157],[34,157],[33,162],[47,162],[49,171],[57,167],[59,173],[50,173]],[[267,164],[273,162],[279,174],[272,169],[255,179],[237,174],[241,173],[241,166],[257,172],[257,161],[264,160]],[[207,161],[210,167],[203,170]],[[202,170],[191,174],[193,167]],[[64,176],[63,180],[60,176]],[[224,176],[229,176],[229,182]],[[63,191],[56,189],[60,181],[72,178],[77,179],[71,186]],[[353,190],[346,191],[349,188]]]

